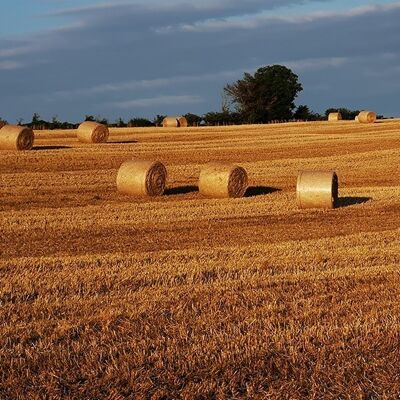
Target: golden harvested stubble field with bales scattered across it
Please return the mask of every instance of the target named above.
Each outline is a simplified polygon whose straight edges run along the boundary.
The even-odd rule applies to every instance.
[[[132,158],[165,196],[117,192]],[[0,155],[0,399],[396,398],[399,165],[400,121],[35,132]],[[308,169],[338,209],[297,208]]]

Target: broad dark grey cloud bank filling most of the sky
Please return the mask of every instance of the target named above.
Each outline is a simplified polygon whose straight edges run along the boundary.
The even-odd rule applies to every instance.
[[[0,62],[24,65],[0,75],[7,98],[1,116],[30,118],[39,112],[47,118],[58,114],[78,120],[87,113],[110,118],[137,112],[149,117],[203,113],[220,107],[227,82],[273,63],[284,63],[299,74],[305,88],[299,102],[317,111],[335,104],[358,108],[368,99],[371,108],[396,113],[398,86],[393,82],[400,81],[400,9],[395,7],[302,23],[276,21],[229,33],[168,35],[151,28],[165,26],[166,21],[195,22],[198,15],[178,8],[170,14],[138,15],[128,8],[118,18],[106,14],[24,40],[0,40],[1,51],[6,51],[0,51]],[[35,51],[24,53],[31,46]],[[390,79],[379,71],[387,71]],[[191,97],[179,102],[182,96]]]

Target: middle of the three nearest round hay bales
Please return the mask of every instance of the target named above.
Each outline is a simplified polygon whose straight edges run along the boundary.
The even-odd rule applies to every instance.
[[[209,163],[200,172],[199,191],[207,197],[243,197],[247,185],[247,172],[237,165]]]

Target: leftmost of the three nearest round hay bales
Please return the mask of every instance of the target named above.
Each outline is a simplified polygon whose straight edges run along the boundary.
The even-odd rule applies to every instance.
[[[119,192],[131,196],[161,196],[165,190],[167,170],[159,161],[126,161],[117,175]]]

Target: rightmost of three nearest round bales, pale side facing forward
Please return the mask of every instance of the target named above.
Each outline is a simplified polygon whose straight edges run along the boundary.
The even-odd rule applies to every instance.
[[[302,171],[297,178],[299,208],[335,208],[339,181],[335,171]]]

